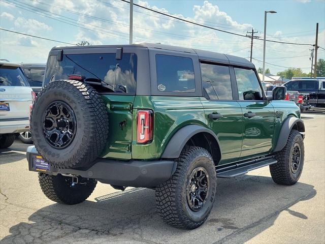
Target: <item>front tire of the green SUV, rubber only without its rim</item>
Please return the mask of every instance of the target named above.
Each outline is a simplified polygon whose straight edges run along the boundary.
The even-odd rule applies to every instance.
[[[298,143],[300,146],[300,163],[297,172],[291,170],[291,157],[294,145]],[[291,130],[287,143],[281,151],[274,154],[274,158],[278,161],[276,164],[270,165],[272,179],[279,185],[291,186],[299,180],[304,167],[304,141],[297,130]]]

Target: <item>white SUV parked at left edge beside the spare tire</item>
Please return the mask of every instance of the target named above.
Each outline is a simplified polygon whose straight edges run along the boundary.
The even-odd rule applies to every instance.
[[[0,148],[11,146],[18,133],[29,131],[34,96],[20,65],[0,61]]]

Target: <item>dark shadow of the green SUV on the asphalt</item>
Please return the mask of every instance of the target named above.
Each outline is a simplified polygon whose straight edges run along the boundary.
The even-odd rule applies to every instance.
[[[216,200],[206,223],[180,230],[160,220],[154,191],[131,189],[96,196],[77,205],[52,204],[10,228],[1,243],[244,243],[273,225],[282,211],[308,219],[291,206],[313,198],[313,186],[279,186],[271,177],[244,175],[217,180]],[[41,194],[41,193],[40,193]],[[14,215],[14,213],[11,213]]]

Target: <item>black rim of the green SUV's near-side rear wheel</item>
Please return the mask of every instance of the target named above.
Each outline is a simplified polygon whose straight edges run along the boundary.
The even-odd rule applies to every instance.
[[[207,198],[210,186],[208,172],[203,167],[197,167],[191,172],[186,186],[186,197],[189,208],[199,211]]]

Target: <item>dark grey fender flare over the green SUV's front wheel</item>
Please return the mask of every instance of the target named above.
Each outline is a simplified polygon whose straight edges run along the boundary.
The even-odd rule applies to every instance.
[[[280,151],[282,150],[282,148],[285,146],[290,131],[293,129],[293,127],[297,125],[297,129],[300,133],[302,133],[303,137],[304,137],[304,133],[305,132],[305,125],[304,125],[304,121],[300,118],[297,117],[288,117],[284,120],[282,127],[281,127],[281,131],[279,134],[279,138],[278,141],[275,145],[275,148],[273,151]]]

